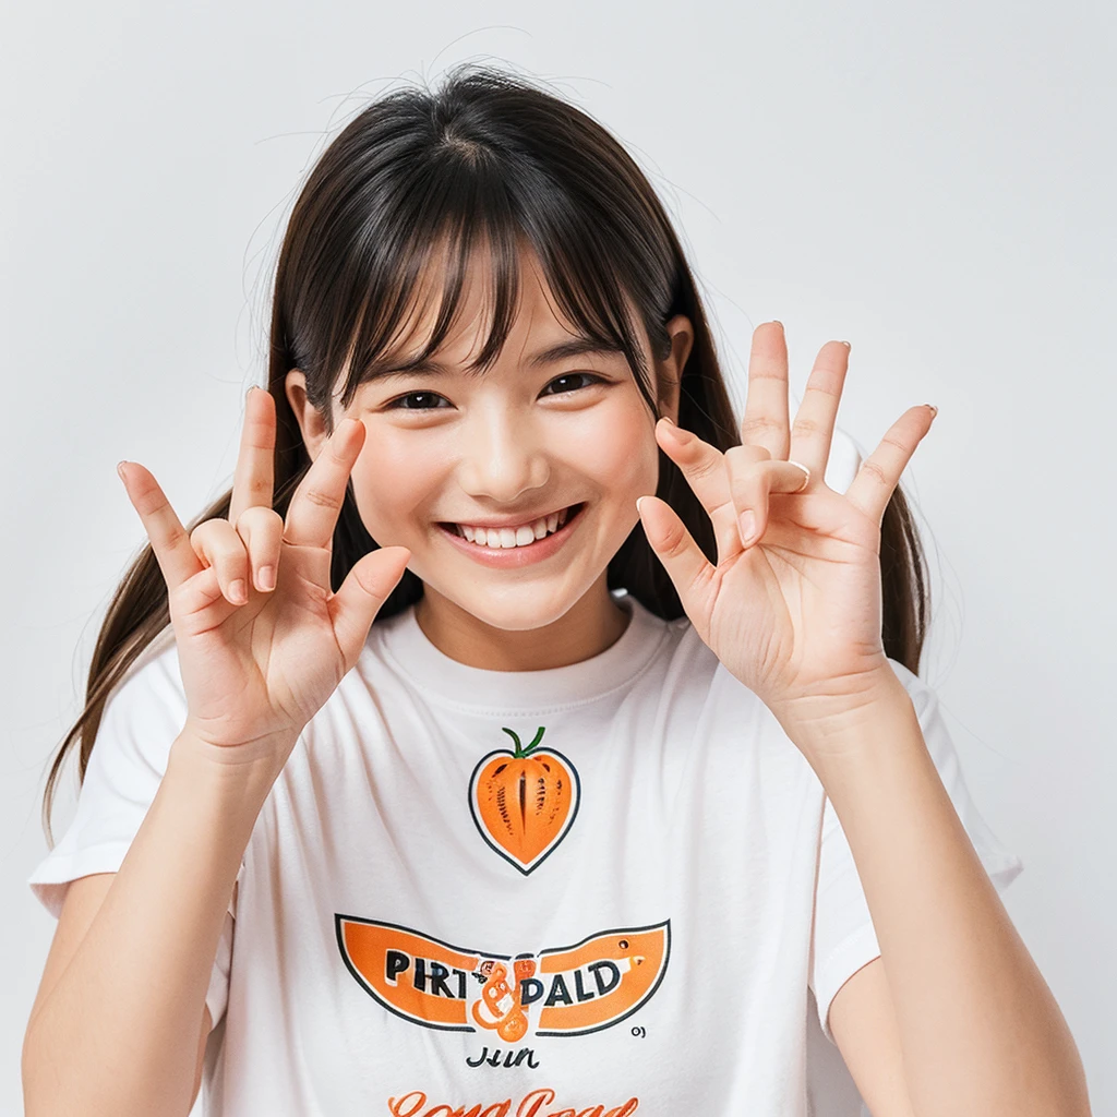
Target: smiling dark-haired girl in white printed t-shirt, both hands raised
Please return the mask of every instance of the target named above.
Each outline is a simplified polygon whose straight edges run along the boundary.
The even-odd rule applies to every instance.
[[[456,71],[303,189],[231,491],[108,611],[28,1114],[1081,1115],[917,675],[907,410],[823,480],[849,360],[733,414],[655,191]],[[49,831],[48,831],[49,832]],[[212,1029],[212,1034],[211,1034]]]

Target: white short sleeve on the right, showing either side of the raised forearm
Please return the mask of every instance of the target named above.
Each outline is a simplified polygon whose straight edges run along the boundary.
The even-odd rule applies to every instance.
[[[903,663],[891,659],[889,662],[911,698],[927,751],[977,857],[997,891],[1004,891],[1023,870],[1023,862],[1001,843],[970,796],[935,691]],[[831,1043],[834,1038],[827,1016],[834,995],[858,970],[879,955],[880,946],[853,855],[838,814],[827,799],[814,897],[810,987],[822,1033]]]

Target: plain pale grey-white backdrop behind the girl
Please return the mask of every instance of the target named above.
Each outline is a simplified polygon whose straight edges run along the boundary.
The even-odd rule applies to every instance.
[[[143,540],[115,474],[185,522],[228,487],[262,381],[294,192],[378,93],[484,58],[553,80],[652,176],[744,384],[852,343],[865,449],[939,413],[905,474],[934,566],[923,675],[1025,870],[1005,904],[1117,1113],[1111,820],[1111,4],[369,4],[103,0],[3,10],[0,1111],[55,923],[48,758]],[[76,766],[55,814],[71,815]],[[64,1057],[64,1056],[63,1056]]]

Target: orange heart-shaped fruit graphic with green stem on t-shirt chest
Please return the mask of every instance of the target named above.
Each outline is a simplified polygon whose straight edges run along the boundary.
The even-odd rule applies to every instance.
[[[502,728],[516,747],[498,748],[477,763],[469,781],[469,809],[485,841],[526,875],[566,836],[577,813],[581,784],[562,753],[538,747],[544,726],[526,748],[513,729]]]

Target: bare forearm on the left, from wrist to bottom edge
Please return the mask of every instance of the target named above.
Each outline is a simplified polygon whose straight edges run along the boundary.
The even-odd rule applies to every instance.
[[[226,908],[275,777],[274,763],[216,763],[217,747],[175,739],[101,908],[29,1022],[29,1115],[189,1111]]]

